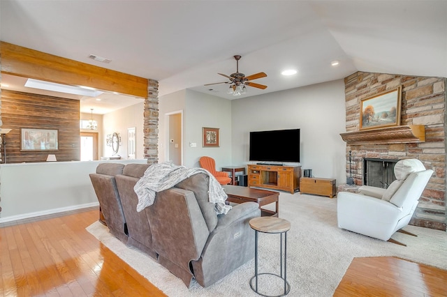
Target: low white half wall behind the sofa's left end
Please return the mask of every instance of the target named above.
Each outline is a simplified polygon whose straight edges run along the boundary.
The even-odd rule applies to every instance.
[[[36,162],[0,167],[0,222],[71,211],[98,205],[89,174],[102,162],[122,164],[147,160]]]

